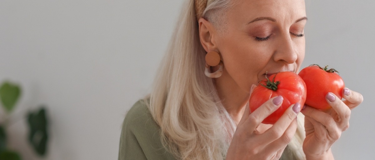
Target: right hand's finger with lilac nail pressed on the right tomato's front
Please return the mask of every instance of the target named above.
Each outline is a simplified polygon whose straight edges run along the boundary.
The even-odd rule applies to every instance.
[[[335,94],[329,92],[326,95],[326,101],[338,114],[338,122],[340,126],[349,123],[351,110],[349,107],[341,101]]]

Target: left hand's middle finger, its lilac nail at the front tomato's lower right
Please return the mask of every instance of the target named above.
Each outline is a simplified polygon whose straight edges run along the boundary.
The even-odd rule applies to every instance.
[[[301,105],[299,103],[291,105],[280,117],[280,119],[276,121],[276,123],[270,129],[268,129],[261,135],[263,141],[275,141],[276,139],[284,136],[287,128],[290,127],[290,124],[294,120],[296,120],[297,114],[300,112],[300,110]],[[293,135],[295,132],[296,130],[294,130]]]

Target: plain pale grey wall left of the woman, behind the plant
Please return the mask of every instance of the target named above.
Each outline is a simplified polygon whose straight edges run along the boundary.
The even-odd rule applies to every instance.
[[[45,159],[117,159],[124,114],[148,92],[180,6],[176,0],[1,0],[0,81],[23,87],[12,117],[48,106]],[[33,160],[25,122],[11,126],[10,145]]]

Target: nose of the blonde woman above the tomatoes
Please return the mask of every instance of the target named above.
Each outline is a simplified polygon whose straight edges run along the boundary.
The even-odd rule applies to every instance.
[[[278,47],[274,53],[274,60],[276,62],[284,62],[286,64],[293,64],[297,61],[298,52],[297,46],[291,39],[290,34],[279,39]]]

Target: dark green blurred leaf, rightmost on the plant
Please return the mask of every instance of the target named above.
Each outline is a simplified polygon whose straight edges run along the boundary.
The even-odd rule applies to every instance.
[[[36,153],[43,156],[46,153],[48,140],[47,119],[44,107],[41,107],[40,110],[35,113],[28,113],[27,121],[30,128],[28,141],[33,146]]]

